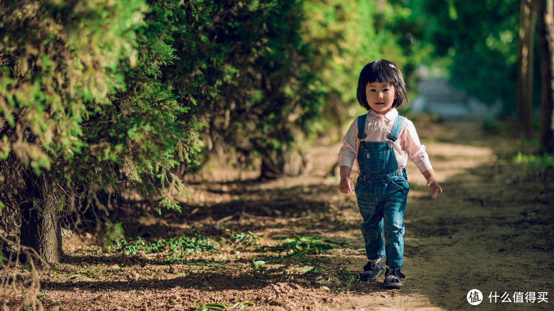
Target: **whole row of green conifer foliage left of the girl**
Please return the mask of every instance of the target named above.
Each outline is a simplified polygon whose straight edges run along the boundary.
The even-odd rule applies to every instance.
[[[172,168],[198,164],[199,131],[208,149],[279,170],[324,94],[353,101],[353,67],[410,56],[392,31],[409,11],[394,2],[382,13],[334,0],[0,6],[0,157],[19,176],[48,175],[66,207],[70,193],[124,185],[178,209],[171,193],[186,192]]]

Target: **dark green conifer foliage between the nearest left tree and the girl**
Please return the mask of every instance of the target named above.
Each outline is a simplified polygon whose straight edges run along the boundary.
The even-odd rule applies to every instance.
[[[300,36],[301,2],[228,0],[185,8],[174,12],[186,20],[174,34],[179,62],[164,76],[207,120],[208,149],[233,152],[240,165],[294,151],[322,106],[315,60]]]

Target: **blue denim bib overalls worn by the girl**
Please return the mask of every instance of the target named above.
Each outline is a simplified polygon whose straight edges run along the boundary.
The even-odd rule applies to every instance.
[[[404,210],[409,184],[406,169],[398,170],[392,143],[398,139],[404,117],[398,115],[389,134],[391,141],[368,142],[365,125],[367,115],[358,117],[358,164],[360,176],[356,183],[356,197],[362,214],[360,229],[366,243],[368,260],[387,257],[391,268],[404,266]],[[383,245],[384,239],[386,246]]]

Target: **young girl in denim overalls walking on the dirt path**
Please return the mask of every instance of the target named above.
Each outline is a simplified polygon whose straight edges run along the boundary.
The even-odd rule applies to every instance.
[[[403,218],[409,190],[404,167],[408,157],[427,178],[434,199],[443,191],[435,180],[425,146],[419,143],[416,128],[398,115],[397,108],[408,101],[406,83],[398,67],[387,60],[372,61],[363,67],[357,98],[368,113],[352,123],[338,156],[340,191],[356,193],[363,218],[360,229],[369,261],[360,280],[376,280],[384,271],[381,258],[386,257],[384,284],[400,287],[405,278],[400,268],[404,266]],[[355,159],[360,171],[356,187],[350,177]]]

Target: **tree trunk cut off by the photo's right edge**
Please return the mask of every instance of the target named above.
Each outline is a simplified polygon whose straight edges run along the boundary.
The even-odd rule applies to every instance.
[[[554,151],[552,113],[554,110],[554,0],[538,0],[538,50],[541,57],[541,149]]]

